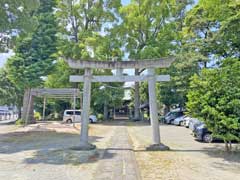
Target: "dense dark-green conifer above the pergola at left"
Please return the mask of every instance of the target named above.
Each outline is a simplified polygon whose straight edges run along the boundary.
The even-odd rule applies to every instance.
[[[37,29],[27,38],[19,39],[15,56],[7,61],[7,75],[21,90],[40,87],[44,76],[49,74],[56,59],[56,22],[53,8],[55,0],[41,0],[35,14]]]

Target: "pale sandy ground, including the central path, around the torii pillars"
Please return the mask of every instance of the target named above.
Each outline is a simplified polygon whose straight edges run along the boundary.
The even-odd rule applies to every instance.
[[[91,124],[90,142],[98,149],[73,152],[79,124],[46,122],[17,128],[0,126],[0,179],[159,179],[229,180],[240,177],[240,153],[227,154],[223,143],[195,141],[185,127],[161,125],[171,150],[146,151],[151,126],[117,121]],[[237,145],[234,145],[237,148]],[[133,165],[131,165],[131,163]]]

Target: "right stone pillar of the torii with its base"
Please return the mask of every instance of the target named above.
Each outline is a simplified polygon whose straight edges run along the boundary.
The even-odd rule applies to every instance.
[[[148,94],[149,94],[149,107],[150,107],[150,120],[152,126],[152,141],[153,144],[147,147],[147,150],[169,150],[170,148],[161,143],[160,129],[158,121],[157,110],[157,96],[156,96],[156,76],[155,69],[148,69]]]

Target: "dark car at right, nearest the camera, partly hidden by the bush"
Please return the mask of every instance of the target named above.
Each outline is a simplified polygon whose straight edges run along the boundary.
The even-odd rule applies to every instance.
[[[194,130],[194,134],[197,140],[206,143],[211,143],[213,141],[212,133],[207,129],[204,123],[196,127],[196,129]]]

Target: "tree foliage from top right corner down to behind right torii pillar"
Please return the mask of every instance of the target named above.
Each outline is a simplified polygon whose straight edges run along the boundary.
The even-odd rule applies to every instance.
[[[171,75],[171,82],[160,85],[161,102],[185,106],[194,74],[226,57],[239,57],[238,9],[234,0],[206,0],[187,12],[176,36],[176,61],[167,71],[159,71]]]

